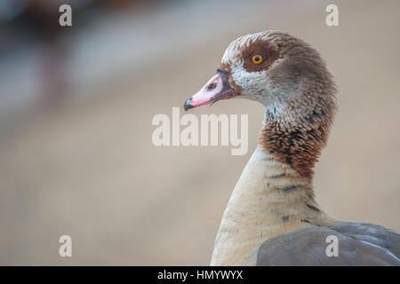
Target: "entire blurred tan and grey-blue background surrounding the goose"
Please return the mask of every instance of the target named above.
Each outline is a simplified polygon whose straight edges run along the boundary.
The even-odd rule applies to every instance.
[[[72,6],[61,28],[60,4]],[[339,6],[339,27],[325,8]],[[238,36],[280,29],[316,47],[340,112],[316,166],[332,217],[400,230],[400,2],[0,2],[0,264],[208,264],[263,108],[223,101],[192,114],[249,114],[249,151],[153,146]],[[72,237],[73,256],[59,256]]]

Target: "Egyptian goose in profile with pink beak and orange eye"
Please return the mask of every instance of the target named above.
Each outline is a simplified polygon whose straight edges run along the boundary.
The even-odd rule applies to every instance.
[[[228,201],[211,265],[400,265],[399,233],[337,221],[314,199],[313,168],[335,95],[316,50],[264,31],[230,43],[216,75],[185,101],[185,110],[234,97],[265,106],[258,146]],[[335,255],[328,253],[332,238]]]

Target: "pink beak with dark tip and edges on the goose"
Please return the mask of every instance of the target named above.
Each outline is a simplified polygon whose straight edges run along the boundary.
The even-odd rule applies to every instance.
[[[236,91],[229,83],[229,71],[218,68],[217,74],[204,85],[192,98],[187,99],[183,107],[187,111],[196,106],[208,105],[220,99],[229,99],[236,96]]]

